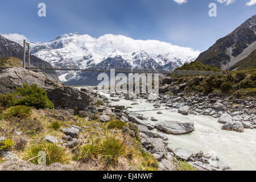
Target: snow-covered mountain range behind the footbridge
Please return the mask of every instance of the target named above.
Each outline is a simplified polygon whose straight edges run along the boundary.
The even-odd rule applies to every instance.
[[[134,40],[106,34],[100,38],[79,33],[64,34],[47,43],[31,44],[31,53],[53,67],[134,67],[174,69],[190,63],[199,55],[191,48],[158,40]],[[60,80],[85,80],[80,72],[59,72]]]

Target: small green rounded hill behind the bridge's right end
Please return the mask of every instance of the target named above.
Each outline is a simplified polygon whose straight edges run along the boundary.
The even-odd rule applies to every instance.
[[[182,67],[176,68],[176,70],[220,71],[219,68],[203,64],[200,61],[193,61],[191,63],[184,64]]]

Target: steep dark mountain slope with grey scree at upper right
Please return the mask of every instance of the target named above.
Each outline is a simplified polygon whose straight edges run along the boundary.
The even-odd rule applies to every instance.
[[[231,34],[217,40],[207,51],[200,53],[197,61],[220,67],[229,60],[230,67],[245,59],[256,49],[256,15],[236,28]],[[227,67],[227,64],[224,68]]]

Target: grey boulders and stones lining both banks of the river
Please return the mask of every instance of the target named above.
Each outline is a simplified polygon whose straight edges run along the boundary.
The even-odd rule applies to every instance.
[[[202,151],[194,154],[186,148],[172,149],[168,147],[168,137],[166,134],[180,135],[191,133],[195,130],[193,122],[190,121],[160,121],[156,125],[148,124],[144,122],[145,118],[141,114],[130,112],[127,108],[133,107],[133,105],[139,105],[140,99],[147,100],[148,103],[154,103],[155,109],[178,109],[178,113],[196,114],[196,115],[208,115],[215,118],[219,118],[218,122],[225,123],[222,127],[223,130],[233,130],[242,132],[244,128],[254,129],[254,100],[234,100],[229,101],[230,98],[222,98],[218,96],[205,96],[198,95],[192,97],[184,97],[182,94],[179,96],[167,96],[166,94],[140,94],[135,96],[134,94],[123,95],[118,93],[112,93],[109,97],[106,95],[100,95],[107,105],[102,106],[100,110],[108,110],[106,114],[116,115],[123,121],[132,121],[138,125],[139,134],[142,138],[142,146],[153,154],[159,162],[159,166],[162,170],[170,170],[174,156],[185,160],[198,170],[227,170],[230,169],[226,164],[222,163],[220,159],[213,154],[203,154]],[[122,105],[111,104],[112,102],[118,103],[121,100],[130,100],[131,105],[125,107]],[[234,106],[234,103],[236,105]],[[240,109],[238,109],[240,108]],[[111,110],[111,113],[110,113]],[[236,117],[236,111],[239,110],[240,117]],[[158,111],[158,114],[162,114]],[[154,117],[150,118],[151,121],[157,121]],[[247,121],[245,121],[247,120]],[[247,123],[247,124],[245,124]],[[250,125],[249,125],[250,123]],[[251,127],[246,127],[247,125]],[[156,131],[163,131],[160,133]],[[171,142],[171,141],[170,141]]]

